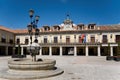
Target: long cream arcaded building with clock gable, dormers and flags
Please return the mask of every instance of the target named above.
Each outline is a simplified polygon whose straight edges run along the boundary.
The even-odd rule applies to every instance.
[[[39,28],[38,55],[49,56],[116,56],[120,55],[120,25],[74,24],[67,18],[60,25]],[[33,41],[35,36],[32,36]],[[0,26],[0,55],[29,55],[27,29],[12,30]]]

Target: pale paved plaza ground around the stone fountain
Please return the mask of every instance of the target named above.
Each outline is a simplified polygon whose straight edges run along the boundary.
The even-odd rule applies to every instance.
[[[64,73],[55,77],[34,80],[120,80],[120,62],[106,61],[95,56],[38,56],[56,60]],[[7,68],[10,57],[0,57],[0,71]],[[1,73],[0,73],[1,74]],[[8,80],[2,79],[0,80]]]

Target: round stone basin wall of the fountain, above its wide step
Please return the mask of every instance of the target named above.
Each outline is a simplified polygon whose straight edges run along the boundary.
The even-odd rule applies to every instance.
[[[8,61],[9,69],[13,70],[53,70],[56,61],[53,59],[42,59],[33,62],[30,59],[13,59]]]

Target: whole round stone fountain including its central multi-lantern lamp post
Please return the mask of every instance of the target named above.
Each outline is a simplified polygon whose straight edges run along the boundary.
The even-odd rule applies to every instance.
[[[37,37],[39,29],[37,23],[39,16],[33,18],[34,10],[29,11],[31,22],[28,27],[31,42],[27,45],[27,49],[32,56],[32,59],[17,58],[8,61],[8,68],[2,70],[1,78],[7,79],[40,79],[62,74],[64,71],[55,67],[56,60],[53,59],[36,59],[36,54],[39,53],[40,45]],[[33,21],[32,21],[33,20]],[[34,30],[33,30],[34,29]],[[35,35],[35,40],[32,42],[32,35]]]

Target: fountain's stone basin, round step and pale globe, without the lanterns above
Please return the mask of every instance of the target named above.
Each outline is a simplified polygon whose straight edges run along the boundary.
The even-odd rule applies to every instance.
[[[33,43],[28,47],[28,50],[31,48],[31,51],[36,53],[36,47],[38,48],[39,45]],[[3,70],[0,77],[7,79],[40,79],[62,74],[64,71],[55,67],[55,64],[56,60],[54,59],[38,59],[35,61],[28,58],[11,59],[8,61],[8,69]]]

